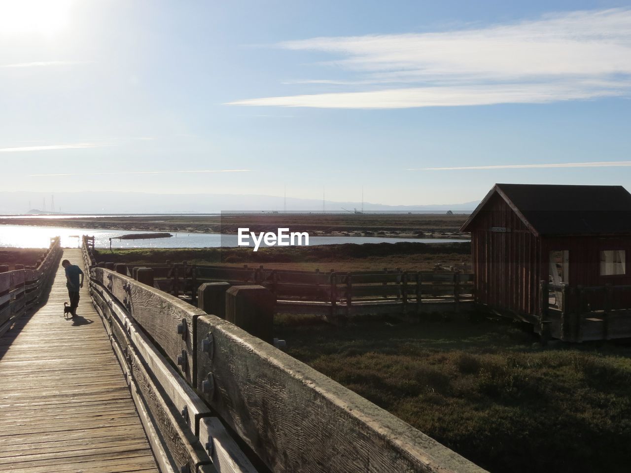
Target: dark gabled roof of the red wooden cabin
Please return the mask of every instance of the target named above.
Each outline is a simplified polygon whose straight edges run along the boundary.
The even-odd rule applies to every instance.
[[[538,235],[631,234],[631,194],[622,185],[495,184],[461,231],[496,192]]]

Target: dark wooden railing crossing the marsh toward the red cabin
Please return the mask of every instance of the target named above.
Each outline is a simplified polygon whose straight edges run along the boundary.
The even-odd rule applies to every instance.
[[[473,300],[473,274],[458,271],[287,271],[260,267],[201,266],[194,264],[100,263],[99,266],[138,279],[150,272],[151,284],[196,304],[199,286],[225,281],[232,285],[258,284],[268,288],[278,301],[278,312],[319,313],[345,317],[360,313],[418,314],[445,305]]]

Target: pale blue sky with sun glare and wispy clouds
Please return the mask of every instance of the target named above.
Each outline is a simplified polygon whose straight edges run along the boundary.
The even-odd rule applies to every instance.
[[[0,0],[0,190],[631,190],[631,4]]]

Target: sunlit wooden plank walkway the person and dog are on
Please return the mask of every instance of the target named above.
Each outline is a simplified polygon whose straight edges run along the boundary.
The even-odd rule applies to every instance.
[[[81,250],[63,258],[85,271]],[[45,305],[0,337],[0,471],[159,472],[87,282],[66,320],[60,265]]]

